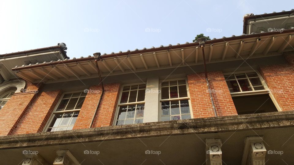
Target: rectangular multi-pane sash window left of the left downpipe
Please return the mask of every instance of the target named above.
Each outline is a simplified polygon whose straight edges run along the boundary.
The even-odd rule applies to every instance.
[[[51,116],[47,132],[72,130],[85,101],[85,92],[65,93]]]

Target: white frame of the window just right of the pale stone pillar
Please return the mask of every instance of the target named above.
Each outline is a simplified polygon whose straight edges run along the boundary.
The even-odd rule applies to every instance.
[[[167,79],[167,80],[160,80],[159,81],[159,89],[161,91],[161,83],[162,82],[166,82],[166,81],[175,81],[175,80],[185,80],[186,81],[186,89],[187,89],[187,97],[179,97],[179,98],[170,98],[170,99],[161,99],[161,92],[159,93],[159,101],[158,101],[158,119],[159,121],[161,121],[161,102],[162,101],[179,101],[179,100],[188,100],[189,102],[189,108],[190,108],[190,115],[191,115],[191,119],[193,119],[193,110],[192,110],[192,104],[191,104],[191,98],[190,98],[190,91],[189,91],[189,84],[188,84],[188,79],[187,78],[179,78],[179,79]],[[168,91],[170,91],[170,86],[168,86]],[[177,85],[178,87],[178,95],[179,95],[179,85]],[[168,92],[169,94],[169,92]],[[170,97],[170,94],[169,96]],[[180,107],[179,107],[180,108]],[[171,115],[170,115],[171,116]],[[180,108],[180,117],[182,119],[182,114],[181,114],[181,108]],[[171,120],[170,120],[171,121]]]

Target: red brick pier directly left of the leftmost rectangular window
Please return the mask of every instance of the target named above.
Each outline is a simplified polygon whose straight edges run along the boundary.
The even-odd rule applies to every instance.
[[[60,90],[38,93],[12,134],[42,132],[61,94]]]

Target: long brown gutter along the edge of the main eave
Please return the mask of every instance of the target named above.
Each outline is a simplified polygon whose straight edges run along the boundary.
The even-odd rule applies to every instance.
[[[217,43],[217,42],[232,41],[232,40],[246,39],[246,38],[252,38],[252,37],[261,37],[261,36],[267,36],[267,35],[284,34],[284,33],[291,33],[291,32],[294,32],[294,29],[284,30],[282,32],[273,31],[273,32],[258,33],[258,34],[252,34],[252,35],[241,35],[241,36],[229,37],[229,38],[224,38],[224,39],[208,40],[208,41],[205,41],[205,44],[213,44],[213,43]],[[137,51],[131,51],[131,52],[113,53],[113,54],[102,55],[102,56],[100,56],[100,59],[109,58],[109,57],[127,56],[130,54],[155,52],[155,51],[161,51],[161,50],[172,50],[172,49],[185,48],[185,47],[190,47],[190,46],[199,46],[199,43],[194,42],[194,43],[159,47],[159,48],[146,49],[146,50],[144,49],[144,50],[137,50]],[[98,55],[98,53],[94,53],[93,55],[96,56],[96,55]],[[12,71],[19,71],[22,69],[39,68],[39,67],[52,66],[52,65],[57,65],[57,64],[67,64],[67,63],[72,63],[72,62],[89,61],[89,60],[95,60],[95,58],[94,57],[86,57],[86,58],[79,58],[79,59],[72,59],[72,60],[54,61],[51,63],[37,64],[37,65],[35,64],[35,65],[30,65],[30,66],[12,68],[11,70]]]

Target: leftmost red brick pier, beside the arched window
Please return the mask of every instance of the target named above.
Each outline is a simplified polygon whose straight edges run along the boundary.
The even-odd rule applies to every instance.
[[[30,91],[38,90],[41,85],[26,82],[25,90],[27,93],[13,94],[9,101],[7,101],[0,113],[0,135],[10,135],[13,133],[13,130],[36,97],[36,93]]]

